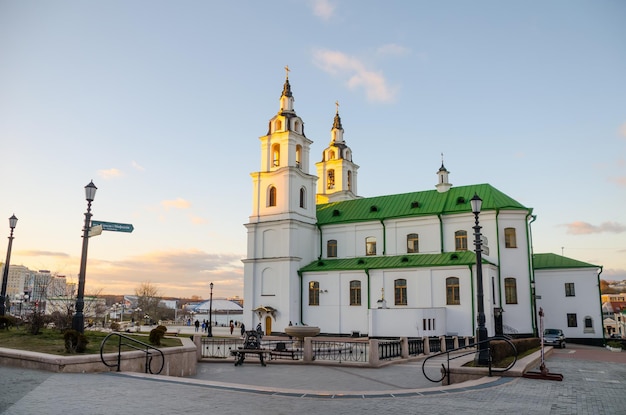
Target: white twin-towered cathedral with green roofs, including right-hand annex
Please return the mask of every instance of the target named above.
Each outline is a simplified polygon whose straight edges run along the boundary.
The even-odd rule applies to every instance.
[[[473,336],[476,194],[488,334],[537,335],[541,307],[547,324],[568,338],[602,338],[601,267],[533,254],[531,208],[489,184],[453,187],[443,162],[433,190],[360,197],[359,166],[338,109],[317,175],[309,173],[312,141],[294,110],[288,76],[260,140],[245,225],[248,327],[260,322],[267,334],[293,324],[335,335]]]

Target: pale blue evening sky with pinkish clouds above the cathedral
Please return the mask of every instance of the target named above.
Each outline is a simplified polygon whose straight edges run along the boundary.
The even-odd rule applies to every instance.
[[[0,236],[15,214],[11,264],[77,281],[93,180],[93,220],[134,231],[89,239],[86,294],[243,296],[288,65],[311,166],[339,102],[360,196],[433,190],[443,153],[453,185],[533,208],[534,252],[626,279],[624,21],[621,0],[0,0]]]

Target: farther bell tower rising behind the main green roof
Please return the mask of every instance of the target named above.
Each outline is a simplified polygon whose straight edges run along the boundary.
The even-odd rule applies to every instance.
[[[336,111],[333,127],[330,130],[330,144],[322,153],[322,161],[317,168],[317,203],[338,202],[356,199],[357,170],[359,166],[352,162],[352,150],[343,139],[343,127],[339,117],[339,103],[335,102]]]

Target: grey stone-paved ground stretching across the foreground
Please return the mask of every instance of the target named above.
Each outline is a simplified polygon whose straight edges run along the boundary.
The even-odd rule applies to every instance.
[[[422,383],[416,363],[380,369],[201,363],[193,379],[0,367],[0,413],[626,414],[626,352],[568,347],[546,360],[562,382],[496,377],[435,388]]]

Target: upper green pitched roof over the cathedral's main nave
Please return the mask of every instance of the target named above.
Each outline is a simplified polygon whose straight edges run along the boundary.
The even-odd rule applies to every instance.
[[[452,187],[444,193],[437,190],[345,200],[317,205],[318,225],[365,222],[390,218],[448,215],[471,212],[474,194],[483,200],[485,210],[528,210],[513,198],[489,184]]]

